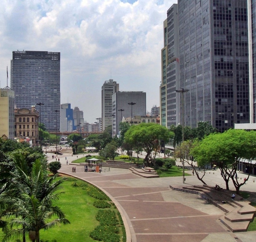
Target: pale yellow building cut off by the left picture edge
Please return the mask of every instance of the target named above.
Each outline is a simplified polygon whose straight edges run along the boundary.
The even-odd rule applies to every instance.
[[[13,140],[14,133],[14,91],[9,88],[0,89],[0,137],[5,135]]]

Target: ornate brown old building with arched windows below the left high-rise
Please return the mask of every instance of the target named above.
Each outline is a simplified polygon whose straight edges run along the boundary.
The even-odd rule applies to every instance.
[[[15,108],[15,137],[25,139],[28,137],[32,146],[39,143],[38,120],[39,113],[35,106],[31,110],[27,108]]]

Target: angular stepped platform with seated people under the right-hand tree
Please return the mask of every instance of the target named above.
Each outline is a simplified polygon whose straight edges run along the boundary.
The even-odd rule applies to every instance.
[[[225,214],[220,218],[220,221],[229,228],[232,232],[246,232],[250,222],[253,222],[253,217],[256,214],[256,208],[250,205],[250,202],[236,194],[234,200],[231,199],[231,191],[225,189],[215,190],[214,187],[203,186],[183,186],[174,187],[171,189],[181,192],[194,193],[206,199]]]

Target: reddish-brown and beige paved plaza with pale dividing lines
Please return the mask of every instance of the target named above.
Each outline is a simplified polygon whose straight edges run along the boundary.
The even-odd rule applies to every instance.
[[[49,153],[49,162],[52,154]],[[78,158],[83,157],[79,154]],[[173,191],[170,185],[182,185],[182,176],[166,178],[143,178],[130,170],[110,168],[110,171],[84,172],[84,166],[66,164],[77,159],[71,154],[58,155],[60,172],[78,177],[100,187],[117,205],[125,218],[127,241],[132,242],[255,242],[256,232],[232,233],[219,220],[224,212],[207,203],[199,195]],[[84,157],[85,158],[85,157]],[[104,167],[103,167],[104,168]],[[104,170],[104,169],[103,169]],[[191,173],[191,171],[188,171]],[[240,173],[239,179],[246,177]],[[256,192],[255,176],[250,176],[241,190]],[[207,171],[203,179],[208,185],[225,188],[218,170]],[[186,176],[187,185],[202,185],[196,176]],[[230,182],[230,190],[233,184]],[[230,192],[231,193],[231,192]],[[129,240],[128,240],[129,239]]]

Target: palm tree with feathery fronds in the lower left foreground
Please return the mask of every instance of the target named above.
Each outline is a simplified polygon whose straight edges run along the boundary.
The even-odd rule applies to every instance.
[[[11,210],[5,216],[14,217],[9,222],[9,231],[4,239],[28,233],[33,242],[39,242],[41,229],[70,223],[61,209],[53,205],[61,194],[56,191],[65,181],[54,181],[55,177],[48,177],[39,159],[32,165],[29,175],[16,166],[13,178],[9,181],[9,189],[0,194],[0,199],[11,205]]]

